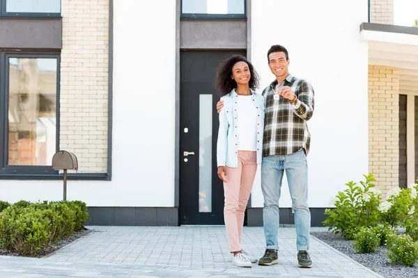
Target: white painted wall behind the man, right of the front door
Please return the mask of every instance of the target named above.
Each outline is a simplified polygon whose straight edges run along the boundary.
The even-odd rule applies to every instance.
[[[367,5],[353,1],[251,1],[251,60],[261,75],[260,91],[274,80],[267,60],[272,44],[289,52],[290,72],[315,90],[311,131],[309,206],[329,207],[345,183],[368,172],[367,42],[359,26]],[[259,177],[259,176],[258,176]],[[281,207],[291,207],[286,177]],[[251,206],[263,206],[260,181]]]

